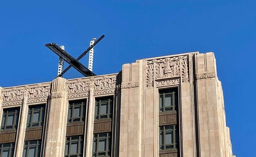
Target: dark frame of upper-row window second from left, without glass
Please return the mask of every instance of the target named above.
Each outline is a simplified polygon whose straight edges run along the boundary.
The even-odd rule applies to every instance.
[[[40,107],[40,109],[34,110],[35,107]],[[32,108],[32,110],[30,110],[31,108]],[[37,121],[37,122],[31,122],[33,120],[34,111],[35,112],[40,111],[39,112],[39,121]],[[29,113],[30,112],[31,112],[31,118],[30,118],[30,121],[29,121]],[[42,117],[43,113],[44,113],[44,117]],[[29,105],[26,128],[27,129],[29,129],[29,128],[42,128],[44,126],[44,118],[45,118],[45,104]],[[32,126],[32,125],[37,124],[37,123],[38,123],[38,126]]]

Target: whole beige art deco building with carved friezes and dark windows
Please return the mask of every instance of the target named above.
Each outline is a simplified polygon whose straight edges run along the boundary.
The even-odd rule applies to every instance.
[[[1,157],[233,157],[212,52],[0,95]]]

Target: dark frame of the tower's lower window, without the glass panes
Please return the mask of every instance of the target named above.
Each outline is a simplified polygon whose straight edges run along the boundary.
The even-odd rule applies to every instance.
[[[173,126],[173,129],[165,129],[165,127],[169,127],[169,126]],[[161,130],[161,128],[163,128],[163,130]],[[170,150],[177,150],[178,148],[178,133],[177,133],[177,128],[178,128],[178,125],[164,125],[164,126],[159,126],[159,151],[170,151]],[[172,139],[173,139],[173,142],[172,144],[166,144],[166,133],[169,133],[169,132],[173,132],[173,136],[172,136]],[[163,144],[160,143],[160,139],[162,139],[162,135],[161,133],[163,134]],[[161,147],[163,146],[164,149],[161,149]],[[169,148],[169,149],[166,149],[167,146],[173,146],[173,148]]]

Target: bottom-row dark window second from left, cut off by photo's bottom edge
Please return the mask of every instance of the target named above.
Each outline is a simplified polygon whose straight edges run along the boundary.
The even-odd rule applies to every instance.
[[[25,141],[23,157],[40,157],[41,140]]]

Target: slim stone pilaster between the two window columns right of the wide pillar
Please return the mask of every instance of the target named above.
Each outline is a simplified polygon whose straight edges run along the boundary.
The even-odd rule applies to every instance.
[[[86,155],[85,157],[92,156],[92,144],[93,144],[93,126],[94,126],[94,108],[95,99],[93,95],[93,86],[90,86],[89,91],[89,105],[88,105],[88,123],[87,123],[87,137],[86,137]]]

